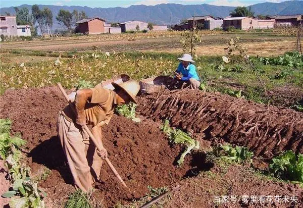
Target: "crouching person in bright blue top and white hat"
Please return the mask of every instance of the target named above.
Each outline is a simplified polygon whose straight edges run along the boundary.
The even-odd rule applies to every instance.
[[[192,60],[192,57],[189,54],[184,54],[181,58],[178,58],[178,60],[180,60],[180,64],[175,71],[174,85],[177,82],[180,84],[186,83],[186,85],[190,86],[192,89],[197,89],[201,83],[196,68],[193,65],[194,61]]]

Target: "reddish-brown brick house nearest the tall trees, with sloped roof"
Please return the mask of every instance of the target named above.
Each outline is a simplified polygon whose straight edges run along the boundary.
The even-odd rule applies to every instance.
[[[76,22],[78,24],[76,31],[89,35],[105,33],[106,20],[99,17],[85,18]]]

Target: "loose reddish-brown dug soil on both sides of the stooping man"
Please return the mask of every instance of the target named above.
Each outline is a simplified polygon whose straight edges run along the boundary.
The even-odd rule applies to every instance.
[[[71,174],[56,136],[58,113],[65,105],[57,87],[8,90],[0,101],[0,118],[12,119],[12,131],[21,132],[22,138],[28,141],[27,163],[32,173],[41,171],[43,166],[52,170],[40,186],[46,190],[48,200],[51,199],[49,205],[57,207],[74,190],[69,185]],[[104,199],[107,206],[145,195],[147,185],[174,184],[191,169],[190,155],[181,168],[173,165],[181,149],[170,146],[156,123],[134,123],[114,115],[110,125],[103,128],[103,135],[109,158],[129,187],[123,188],[104,164],[101,182],[95,184],[95,198]]]

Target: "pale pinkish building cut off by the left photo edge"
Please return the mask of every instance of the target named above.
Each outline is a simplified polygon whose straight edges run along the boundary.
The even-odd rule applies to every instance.
[[[0,35],[17,36],[16,16],[0,16]]]

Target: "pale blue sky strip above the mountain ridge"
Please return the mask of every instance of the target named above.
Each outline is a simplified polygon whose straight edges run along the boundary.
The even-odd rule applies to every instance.
[[[157,4],[167,4],[167,3],[175,3],[182,5],[193,5],[193,4],[211,4],[211,5],[219,5],[219,6],[248,6],[258,3],[264,2],[284,2],[283,0],[124,0],[124,1],[109,1],[109,0],[0,0],[0,8],[3,7],[12,7],[12,6],[20,6],[23,4],[33,5],[33,4],[41,4],[41,5],[65,5],[65,6],[87,6],[87,7],[101,7],[101,8],[109,8],[109,7],[129,7],[131,5],[157,5]]]

